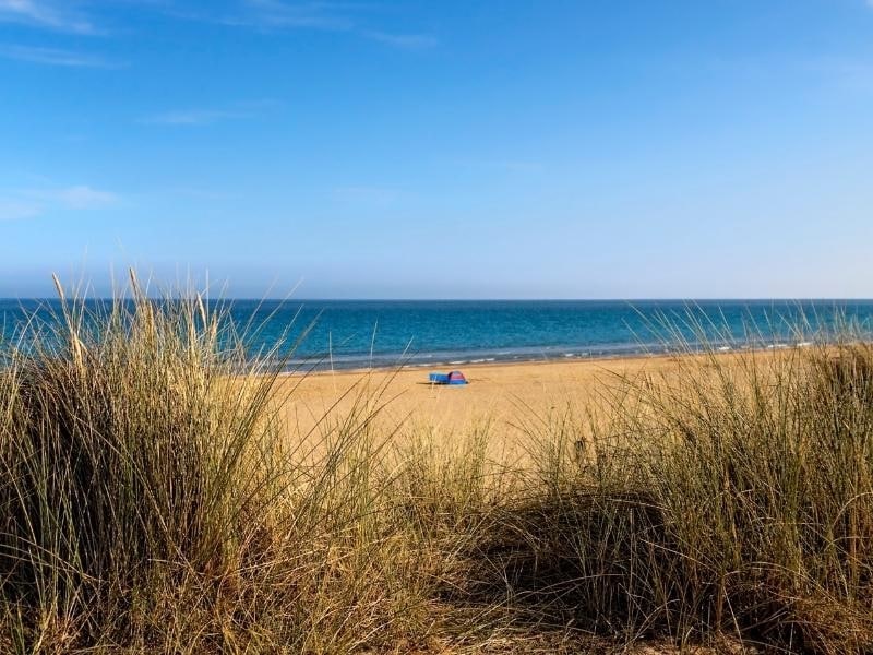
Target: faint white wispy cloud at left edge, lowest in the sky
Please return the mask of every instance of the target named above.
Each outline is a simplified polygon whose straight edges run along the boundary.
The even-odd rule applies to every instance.
[[[33,218],[53,210],[100,210],[120,200],[116,193],[87,184],[0,191],[0,221]]]

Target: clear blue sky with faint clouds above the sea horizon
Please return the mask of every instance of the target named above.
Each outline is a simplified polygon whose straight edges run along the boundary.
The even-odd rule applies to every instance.
[[[0,0],[0,296],[873,296],[873,2]]]

